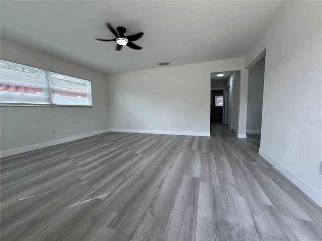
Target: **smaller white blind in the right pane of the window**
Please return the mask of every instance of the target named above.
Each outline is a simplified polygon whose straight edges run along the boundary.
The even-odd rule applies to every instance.
[[[92,105],[91,82],[48,72],[52,103],[59,105]]]

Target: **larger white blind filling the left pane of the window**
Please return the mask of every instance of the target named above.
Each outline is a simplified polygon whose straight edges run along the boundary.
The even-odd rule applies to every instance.
[[[5,104],[49,104],[46,71],[0,61],[0,101]]]

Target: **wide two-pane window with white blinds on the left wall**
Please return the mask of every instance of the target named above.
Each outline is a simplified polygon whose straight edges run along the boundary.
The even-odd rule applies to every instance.
[[[0,103],[92,106],[91,82],[0,60]]]

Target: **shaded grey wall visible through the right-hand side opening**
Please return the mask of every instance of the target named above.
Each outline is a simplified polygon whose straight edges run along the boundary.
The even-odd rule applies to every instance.
[[[265,57],[249,69],[246,133],[261,133],[264,70]]]

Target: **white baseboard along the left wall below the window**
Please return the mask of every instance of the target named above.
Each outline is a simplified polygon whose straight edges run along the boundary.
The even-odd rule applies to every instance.
[[[72,137],[53,140],[53,141],[49,141],[49,142],[34,144],[34,145],[26,146],[26,147],[19,147],[19,148],[15,148],[15,149],[6,150],[6,151],[1,151],[0,157],[4,158],[4,157],[9,157],[9,156],[25,153],[25,152],[30,152],[30,151],[38,150],[38,149],[45,148],[45,147],[50,147],[50,146],[54,146],[54,145],[58,145],[58,144],[66,143],[66,142],[75,141],[78,139],[96,136],[99,134],[107,133],[109,131],[110,131],[110,129],[105,129],[105,130],[101,130],[101,131],[97,131],[97,132],[85,133],[85,134],[81,134],[81,135],[77,135],[77,136],[72,136]]]

